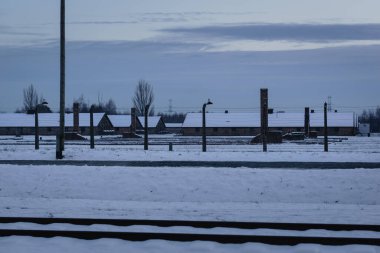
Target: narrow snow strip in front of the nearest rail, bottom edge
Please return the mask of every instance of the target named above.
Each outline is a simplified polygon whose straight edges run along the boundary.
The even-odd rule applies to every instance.
[[[260,243],[219,244],[214,242],[169,242],[149,240],[129,242],[118,239],[99,239],[83,241],[71,238],[55,237],[51,239],[33,237],[0,238],[0,252],[12,253],[100,253],[100,252],[133,252],[133,253],[379,253],[380,247],[365,245],[321,246],[299,244],[297,246],[272,246]]]

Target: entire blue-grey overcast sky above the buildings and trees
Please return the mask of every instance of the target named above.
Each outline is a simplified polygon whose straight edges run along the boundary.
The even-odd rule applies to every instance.
[[[1,0],[0,111],[33,83],[59,105],[59,0]],[[67,0],[66,105],[131,107],[139,79],[156,112],[341,111],[380,105],[378,0]]]

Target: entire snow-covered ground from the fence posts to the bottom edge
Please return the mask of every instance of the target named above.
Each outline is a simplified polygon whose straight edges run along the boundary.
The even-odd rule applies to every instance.
[[[0,160],[54,160],[55,146],[35,151],[32,137],[0,138]],[[30,143],[28,143],[28,141]],[[67,143],[68,160],[380,162],[380,137],[330,144],[87,145]],[[144,168],[0,165],[0,216],[102,217],[380,224],[380,169]],[[24,228],[28,224],[12,225]],[[5,228],[2,225],[2,228]],[[111,229],[111,228],[105,228]],[[112,228],[114,229],[114,228]],[[144,231],[146,227],[128,228]],[[223,233],[224,231],[220,231]],[[257,232],[257,231],[256,231]],[[312,231],[310,233],[320,233]],[[361,232],[359,232],[361,233]],[[362,236],[367,236],[362,232]],[[378,235],[375,235],[378,236]],[[380,252],[350,245],[84,241],[0,237],[0,252]]]

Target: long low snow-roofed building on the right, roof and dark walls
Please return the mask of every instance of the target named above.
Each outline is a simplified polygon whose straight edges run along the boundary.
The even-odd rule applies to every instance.
[[[268,115],[269,131],[283,134],[304,131],[304,113],[272,113]],[[331,112],[327,116],[328,134],[350,136],[356,134],[357,122],[354,113]],[[310,131],[323,135],[323,113],[310,113]],[[202,134],[202,113],[188,113],[182,125],[186,136]],[[255,136],[260,133],[260,113],[207,113],[206,134],[208,136]]]

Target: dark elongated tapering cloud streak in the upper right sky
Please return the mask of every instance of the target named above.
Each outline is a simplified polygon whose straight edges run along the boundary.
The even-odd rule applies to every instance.
[[[165,29],[187,37],[329,42],[380,40],[380,24],[239,24]]]

